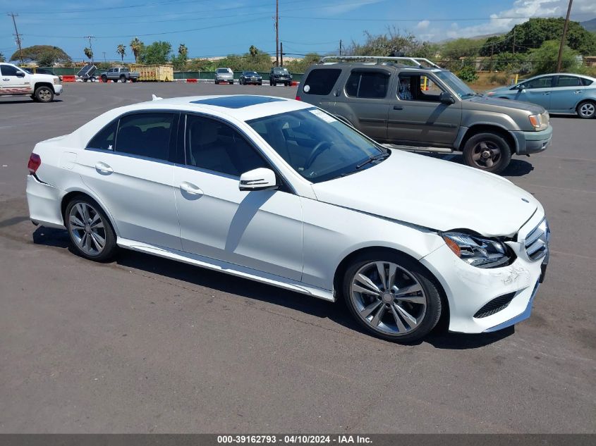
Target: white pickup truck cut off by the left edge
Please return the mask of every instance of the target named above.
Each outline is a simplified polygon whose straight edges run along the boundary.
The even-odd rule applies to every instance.
[[[58,76],[30,74],[12,63],[0,63],[0,96],[30,96],[37,102],[51,102],[61,92]]]

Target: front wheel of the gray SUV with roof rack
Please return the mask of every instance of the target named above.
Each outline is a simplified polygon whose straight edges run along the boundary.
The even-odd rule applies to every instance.
[[[463,147],[463,161],[481,171],[501,173],[511,161],[511,147],[497,133],[478,133]]]

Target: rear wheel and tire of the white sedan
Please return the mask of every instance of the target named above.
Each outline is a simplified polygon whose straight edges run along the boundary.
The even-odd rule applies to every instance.
[[[66,206],[64,221],[73,251],[79,256],[106,261],[116,252],[114,228],[99,204],[89,197],[74,197]]]

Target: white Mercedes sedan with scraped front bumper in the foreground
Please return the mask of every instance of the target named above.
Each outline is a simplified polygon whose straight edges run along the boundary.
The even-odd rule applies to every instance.
[[[341,297],[400,342],[442,315],[460,333],[528,318],[548,260],[528,192],[289,99],[154,98],[39,142],[28,168],[32,221],[86,259],[122,247]]]

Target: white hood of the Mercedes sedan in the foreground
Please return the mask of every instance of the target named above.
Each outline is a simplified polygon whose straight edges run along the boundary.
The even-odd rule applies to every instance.
[[[486,237],[513,236],[540,206],[529,192],[498,175],[396,150],[365,171],[312,188],[320,202]]]

